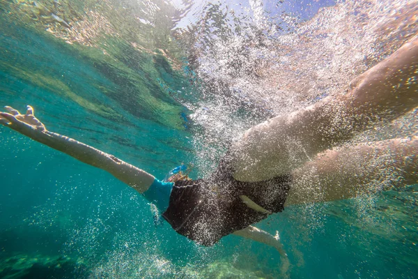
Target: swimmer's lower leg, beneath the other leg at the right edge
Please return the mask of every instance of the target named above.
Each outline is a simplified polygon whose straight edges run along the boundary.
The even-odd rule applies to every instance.
[[[293,172],[285,206],[418,183],[418,137],[328,150]]]

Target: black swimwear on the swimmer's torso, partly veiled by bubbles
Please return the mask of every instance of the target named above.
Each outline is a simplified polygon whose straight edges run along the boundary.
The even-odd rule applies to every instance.
[[[290,175],[267,181],[237,181],[231,169],[221,163],[210,179],[174,183],[169,207],[162,216],[179,234],[212,246],[222,236],[257,223],[270,213],[283,211],[290,182]],[[251,209],[240,195],[266,211]]]

